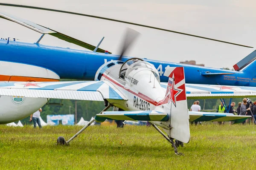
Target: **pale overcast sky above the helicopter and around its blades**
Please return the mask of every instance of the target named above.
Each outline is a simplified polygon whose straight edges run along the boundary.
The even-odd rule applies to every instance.
[[[256,48],[255,0],[0,0],[111,17],[204,37],[250,45]],[[123,3],[122,3],[123,2]],[[170,32],[50,11],[0,6],[0,10],[30,20],[76,39],[119,53],[126,27],[141,33],[128,56],[169,62],[196,60],[213,68],[233,68],[255,48],[244,48]],[[16,23],[0,19],[0,37],[36,42],[41,35]],[[49,35],[42,44],[83,49]]]

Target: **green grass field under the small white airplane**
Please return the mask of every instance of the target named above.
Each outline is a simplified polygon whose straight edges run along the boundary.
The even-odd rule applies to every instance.
[[[0,126],[0,169],[256,169],[256,126],[191,126],[176,156],[153,127],[88,127],[70,146],[77,126]]]

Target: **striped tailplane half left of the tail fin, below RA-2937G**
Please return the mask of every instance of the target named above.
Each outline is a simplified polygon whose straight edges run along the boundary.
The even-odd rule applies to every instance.
[[[109,111],[97,114],[95,117],[97,122],[104,122],[106,119],[166,122],[169,117],[167,113],[158,111]]]

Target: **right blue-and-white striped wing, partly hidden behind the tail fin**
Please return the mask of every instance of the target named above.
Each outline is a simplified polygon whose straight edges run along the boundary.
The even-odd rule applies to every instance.
[[[161,82],[161,86],[166,91],[167,83]],[[256,87],[186,84],[187,99],[243,98],[255,96]]]

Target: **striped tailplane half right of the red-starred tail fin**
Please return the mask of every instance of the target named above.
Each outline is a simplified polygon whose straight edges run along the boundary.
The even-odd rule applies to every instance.
[[[189,111],[190,122],[229,122],[241,123],[251,116],[233,115],[232,113],[192,112]]]

